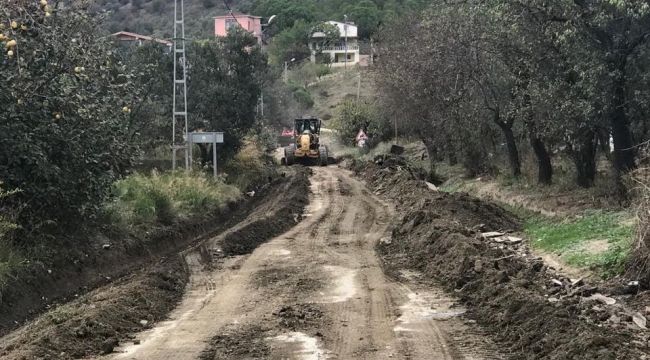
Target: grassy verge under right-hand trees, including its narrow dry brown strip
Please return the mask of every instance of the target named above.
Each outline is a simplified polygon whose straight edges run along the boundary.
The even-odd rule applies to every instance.
[[[553,208],[535,188],[503,184],[497,180],[451,177],[440,187],[444,192],[467,192],[496,201],[523,221],[523,233],[533,250],[556,256],[578,270],[590,270],[602,278],[620,275],[631,251],[635,216],[629,209],[595,209],[588,204]],[[565,200],[571,202],[570,197]],[[579,202],[576,201],[576,202]]]

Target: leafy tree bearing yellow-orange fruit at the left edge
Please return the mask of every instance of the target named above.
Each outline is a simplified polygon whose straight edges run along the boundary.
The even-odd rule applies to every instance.
[[[136,158],[146,69],[69,7],[5,0],[0,21],[0,181],[20,189],[0,205],[27,234],[87,223]]]

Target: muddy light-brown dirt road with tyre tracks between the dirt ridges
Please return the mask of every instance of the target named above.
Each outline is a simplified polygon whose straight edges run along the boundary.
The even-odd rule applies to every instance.
[[[500,358],[419,274],[384,275],[374,245],[390,241],[391,206],[345,170],[313,170],[300,223],[250,255],[220,258],[219,238],[188,252],[190,287],[171,319],[110,358]]]

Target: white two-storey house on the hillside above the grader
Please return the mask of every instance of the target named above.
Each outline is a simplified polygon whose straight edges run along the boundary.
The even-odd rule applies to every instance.
[[[327,46],[321,46],[326,35],[322,32],[315,32],[311,35],[309,49],[311,50],[311,61],[316,62],[316,53],[328,54],[332,66],[352,66],[359,63],[359,40],[357,26],[352,23],[328,21],[329,24],[339,29],[339,40]],[[346,41],[347,38],[347,41]],[[347,45],[347,46],[346,46]],[[346,51],[347,47],[347,51]]]

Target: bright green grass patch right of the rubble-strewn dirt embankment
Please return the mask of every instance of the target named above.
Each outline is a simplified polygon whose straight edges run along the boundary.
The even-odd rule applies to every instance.
[[[607,278],[624,270],[634,237],[630,217],[627,212],[608,211],[586,211],[565,220],[532,215],[525,221],[524,232],[534,248],[558,254],[568,265],[589,268]],[[607,250],[585,250],[594,240],[607,241]]]

